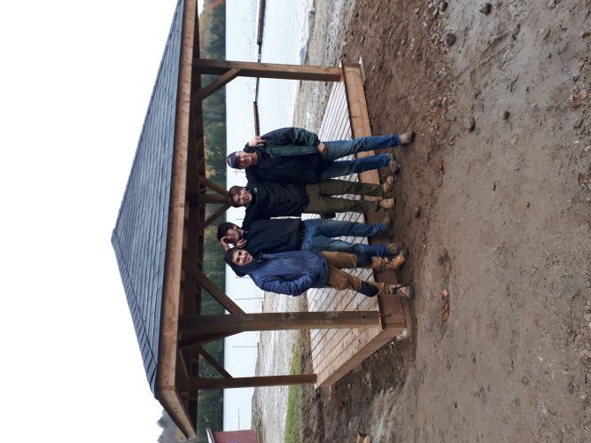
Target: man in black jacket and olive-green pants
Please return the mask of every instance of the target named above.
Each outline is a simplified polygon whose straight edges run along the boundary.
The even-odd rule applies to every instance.
[[[232,186],[228,194],[230,205],[246,207],[242,228],[249,229],[253,221],[271,217],[299,217],[302,213],[331,214],[347,211],[365,214],[378,209],[393,209],[393,198],[368,201],[332,197],[357,194],[383,198],[391,190],[391,182],[380,185],[328,180],[315,184],[248,183],[246,187]]]

